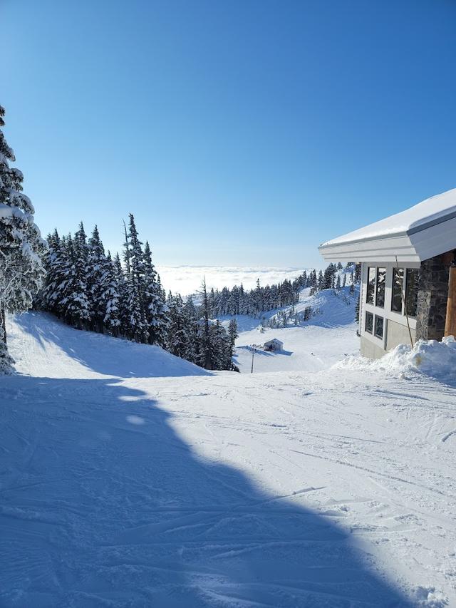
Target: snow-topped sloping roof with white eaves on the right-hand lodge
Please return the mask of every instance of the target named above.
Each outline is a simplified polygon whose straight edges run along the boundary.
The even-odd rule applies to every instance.
[[[456,188],[323,243],[328,261],[420,262],[456,247]]]

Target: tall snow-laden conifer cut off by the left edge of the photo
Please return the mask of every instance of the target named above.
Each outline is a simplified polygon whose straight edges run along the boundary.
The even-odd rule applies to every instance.
[[[0,127],[5,110],[0,105]],[[31,308],[44,277],[46,242],[33,221],[33,205],[22,192],[24,176],[16,168],[14,152],[0,129],[0,350],[1,373],[11,370],[6,348],[6,311]]]

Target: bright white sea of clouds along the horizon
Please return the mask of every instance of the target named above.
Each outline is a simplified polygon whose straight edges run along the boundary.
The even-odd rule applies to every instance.
[[[295,279],[304,268],[243,267],[243,266],[160,266],[157,271],[167,292],[187,296],[194,294],[206,278],[207,288],[222,289],[244,285],[244,289],[255,287],[257,279],[262,286],[279,283],[284,279]]]

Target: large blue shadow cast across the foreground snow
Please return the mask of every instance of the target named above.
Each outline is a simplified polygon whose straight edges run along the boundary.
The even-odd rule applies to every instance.
[[[294,496],[264,493],[115,379],[0,382],[3,608],[410,605],[297,503],[305,475]]]

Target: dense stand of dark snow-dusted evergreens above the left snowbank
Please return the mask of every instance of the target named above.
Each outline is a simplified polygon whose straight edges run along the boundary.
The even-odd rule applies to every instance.
[[[105,252],[94,227],[86,236],[83,223],[74,235],[48,235],[46,277],[35,306],[77,329],[88,329],[155,344],[206,369],[233,369],[237,326],[228,331],[211,321],[209,295],[202,286],[201,304],[179,294],[168,296],[130,214],[124,225],[123,262]]]

